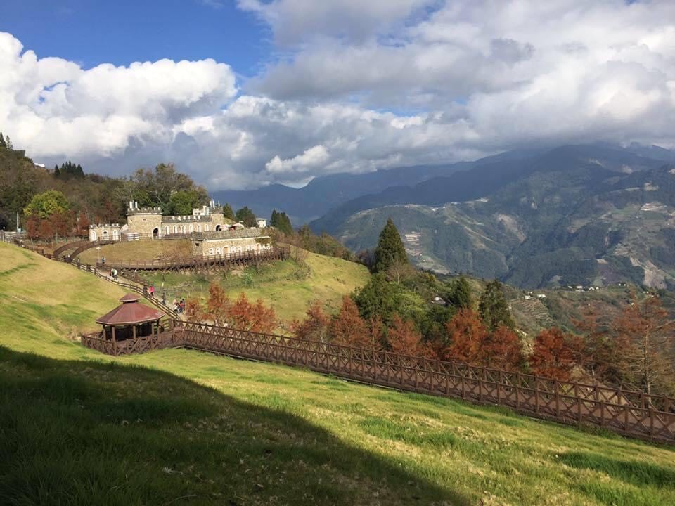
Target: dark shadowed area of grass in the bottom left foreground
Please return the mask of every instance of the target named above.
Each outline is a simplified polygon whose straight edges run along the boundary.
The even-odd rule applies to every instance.
[[[468,504],[283,410],[0,346],[0,503]]]

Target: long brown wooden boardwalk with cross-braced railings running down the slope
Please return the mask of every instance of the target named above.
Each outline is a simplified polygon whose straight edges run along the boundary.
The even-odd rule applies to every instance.
[[[110,354],[182,346],[295,365],[347,380],[507,406],[544,420],[603,427],[624,436],[675,444],[675,399],[665,396],[214,325],[180,321],[172,325],[175,334],[167,338],[167,344],[155,342],[142,349],[133,344],[115,344],[124,348],[112,350],[113,353],[101,349],[101,344],[90,337],[83,336],[82,344]]]

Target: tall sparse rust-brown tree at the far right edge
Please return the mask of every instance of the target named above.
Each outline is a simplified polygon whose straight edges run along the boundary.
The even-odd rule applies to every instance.
[[[617,323],[617,337],[626,375],[648,394],[674,391],[674,363],[667,351],[675,341],[675,322],[670,320],[660,297],[650,294],[627,307]]]

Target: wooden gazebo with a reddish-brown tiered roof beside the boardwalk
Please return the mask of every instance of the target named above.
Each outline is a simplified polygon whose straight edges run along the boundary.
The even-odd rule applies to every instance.
[[[162,311],[139,304],[140,295],[126,294],[110,313],[105,313],[96,323],[103,325],[103,339],[113,342],[136,339],[139,337],[157,337],[160,333]]]

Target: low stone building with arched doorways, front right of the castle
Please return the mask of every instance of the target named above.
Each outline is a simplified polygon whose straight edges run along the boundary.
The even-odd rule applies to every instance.
[[[195,233],[191,240],[193,257],[203,258],[263,252],[272,247],[269,235],[259,228]]]

